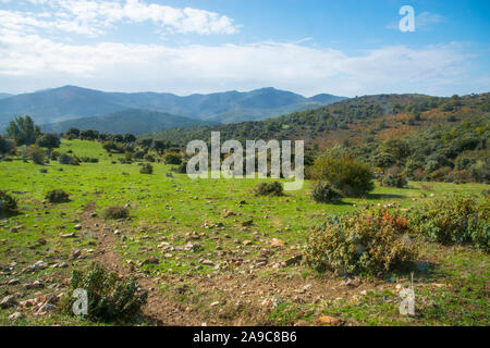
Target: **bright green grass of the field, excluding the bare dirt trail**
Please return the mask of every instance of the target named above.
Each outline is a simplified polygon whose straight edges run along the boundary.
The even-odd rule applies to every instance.
[[[159,288],[162,296],[191,307],[219,324],[232,323],[233,315],[229,313],[232,311],[221,315],[216,312],[218,309],[209,309],[209,303],[226,296],[233,298],[232,291],[223,290],[229,285],[228,281],[220,283],[217,289],[209,288],[203,293],[195,279],[207,275],[219,278],[226,275],[240,283],[249,273],[249,268],[247,264],[225,263],[230,258],[220,256],[218,249],[231,250],[233,254],[254,261],[260,258],[262,249],[271,249],[269,243],[272,238],[284,240],[286,246],[275,250],[269,258],[269,264],[272,265],[297,253],[305,244],[309,228],[320,223],[327,214],[344,214],[366,204],[383,206],[390,202],[411,208],[432,199],[431,194],[434,198],[445,194],[480,196],[482,190],[488,189],[488,185],[481,184],[409,183],[409,188],[404,189],[377,187],[365,199],[344,199],[340,204],[318,204],[309,197],[309,182],[305,183],[302,190],[286,191],[283,197],[255,196],[254,188],[264,179],[193,181],[175,173],[173,177],[167,177],[166,174],[172,166],[162,163],[152,163],[154,174],[142,175],[140,166],[136,163],[120,164],[119,156],[109,157],[98,142],[63,140],[59,151],[69,149],[78,157],[98,158],[99,163],[72,166],[52,161],[42,166],[48,170],[48,173],[42,174],[39,165],[24,163],[22,160],[0,162],[0,189],[7,189],[19,199],[21,211],[16,216],[1,220],[0,265],[4,269],[13,261],[17,265],[13,271],[15,274],[0,274],[0,284],[14,277],[21,278],[21,283],[38,278],[53,278],[57,279],[53,283],[62,283],[62,279],[69,277],[72,268],[87,265],[96,259],[97,243],[90,227],[85,224],[82,231],[74,228],[82,222],[81,215],[87,207],[95,203],[95,211],[101,216],[114,202],[120,206],[128,204],[131,220],[107,222],[109,227],[118,228],[127,236],[125,241],[119,238],[115,246],[122,259],[137,263],[150,256],[158,257],[159,264],[146,264],[138,269],[155,278],[170,277],[171,282],[175,282]],[[117,164],[112,164],[112,161]],[[44,203],[46,192],[58,188],[64,189],[72,200],[61,204]],[[426,197],[422,198],[421,195]],[[245,203],[241,204],[243,200]],[[224,210],[233,211],[235,215],[225,217]],[[250,220],[252,226],[242,225]],[[221,223],[222,227],[204,228],[206,223]],[[11,228],[19,225],[24,226],[21,232],[12,233]],[[77,237],[60,238],[60,234],[69,233],[76,233]],[[197,236],[196,239],[191,239],[193,234]],[[46,245],[40,245],[39,238],[45,239]],[[196,252],[179,250],[189,240],[198,243],[201,249]],[[252,244],[245,246],[246,240]],[[161,251],[157,246],[162,241],[171,243],[174,249]],[[424,243],[422,248],[425,261],[431,268],[416,277],[416,296],[420,299],[419,316],[403,318],[399,314],[400,298],[394,288],[399,279],[393,278],[384,282],[381,289],[378,285],[370,285],[373,293],[365,297],[352,295],[341,301],[333,298],[319,302],[310,299],[304,303],[290,298],[275,308],[273,313],[260,320],[268,324],[294,324],[298,320],[315,324],[318,315],[330,314],[343,319],[344,323],[360,325],[487,325],[490,313],[489,257],[463,247],[441,247]],[[22,268],[38,260],[51,263],[66,261],[77,249],[94,252],[86,252],[86,258],[69,262],[68,269],[48,268],[35,274],[20,273]],[[170,257],[166,257],[166,253]],[[203,259],[211,260],[213,265],[203,265]],[[220,270],[215,268],[217,264],[221,266]],[[295,285],[302,282],[321,283],[323,277],[329,276],[318,275],[302,265],[286,269],[267,266],[255,269],[254,272],[266,284],[270,279],[277,279],[279,284],[294,281]],[[339,283],[342,279],[330,281]],[[185,295],[175,295],[175,288],[183,283],[188,283],[189,290]],[[440,283],[448,286],[431,285]],[[20,288],[0,286],[0,295],[15,290]],[[41,290],[49,291],[51,289]],[[260,306],[266,294],[260,295],[258,289],[250,291],[255,293],[245,296],[245,300]],[[24,299],[32,298],[34,294],[35,291],[28,290]],[[332,293],[334,295],[339,294]],[[0,324],[11,325],[8,316],[12,312],[12,309],[0,310]],[[220,315],[224,319],[220,320]],[[258,321],[257,318],[248,318],[252,324]],[[53,313],[48,316],[28,314],[26,320],[16,324],[93,323]]]

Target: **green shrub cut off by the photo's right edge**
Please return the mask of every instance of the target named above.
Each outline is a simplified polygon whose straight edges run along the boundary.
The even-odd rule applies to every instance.
[[[470,197],[429,201],[411,215],[414,232],[444,245],[473,244],[489,251],[490,204]]]

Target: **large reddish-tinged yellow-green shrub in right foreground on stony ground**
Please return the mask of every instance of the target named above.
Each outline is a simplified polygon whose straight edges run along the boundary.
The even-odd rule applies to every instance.
[[[418,254],[408,231],[406,219],[388,210],[332,216],[310,232],[305,260],[344,274],[403,271]]]

